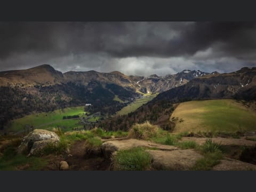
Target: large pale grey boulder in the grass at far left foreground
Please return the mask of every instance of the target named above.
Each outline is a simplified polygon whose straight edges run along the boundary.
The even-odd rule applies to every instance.
[[[56,133],[35,129],[22,139],[21,145],[18,147],[18,153],[27,152],[30,156],[42,150],[49,143],[57,144],[59,141],[60,138]]]

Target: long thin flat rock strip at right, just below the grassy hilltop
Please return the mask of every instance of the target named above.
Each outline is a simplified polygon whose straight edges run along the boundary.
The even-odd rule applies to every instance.
[[[183,137],[182,141],[195,141],[198,145],[203,145],[209,138],[195,138],[195,137]],[[233,138],[211,138],[213,142],[220,143],[220,145],[245,145],[254,146],[256,141],[250,141],[245,139],[233,139]]]

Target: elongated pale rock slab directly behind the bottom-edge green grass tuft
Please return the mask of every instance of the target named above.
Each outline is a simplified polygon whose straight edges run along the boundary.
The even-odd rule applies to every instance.
[[[109,158],[111,154],[113,154],[117,150],[130,149],[133,147],[147,147],[147,148],[167,150],[167,151],[178,149],[177,147],[174,147],[174,146],[166,146],[166,145],[161,145],[151,141],[137,140],[137,139],[106,141],[102,144],[101,149],[102,149],[103,155],[106,158]]]

